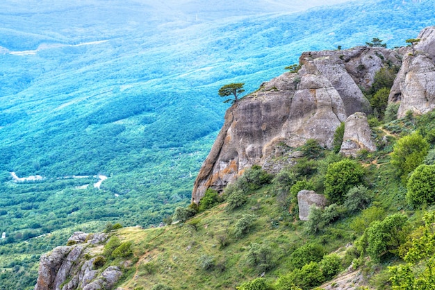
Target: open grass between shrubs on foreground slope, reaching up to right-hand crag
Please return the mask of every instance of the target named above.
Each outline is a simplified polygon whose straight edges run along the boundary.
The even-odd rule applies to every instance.
[[[433,116],[431,113],[425,119],[404,119],[373,128],[378,142],[385,135],[391,137],[384,146],[378,143],[380,150],[376,153],[359,158],[359,162],[366,168],[366,185],[374,196],[370,207],[380,207],[383,211],[379,219],[400,212],[408,216],[411,228],[416,229],[421,225],[422,212],[434,209],[427,207],[419,210],[407,205],[406,189],[389,163],[389,153],[395,139],[418,128],[433,128]],[[386,128],[395,128],[395,133]],[[325,160],[318,162],[323,162],[325,166]],[[312,176],[313,180],[321,179],[322,169],[318,168],[320,171]],[[232,212],[225,210],[225,207],[225,203],[216,205],[186,223],[147,230],[124,228],[116,232],[123,240],[133,242],[133,252],[137,257],[133,267],[126,269],[120,287],[151,289],[156,284],[166,284],[172,289],[235,289],[241,282],[252,280],[262,272],[247,263],[247,247],[251,243],[265,244],[272,248],[274,266],[265,272],[265,279],[270,284],[292,270],[290,254],[307,243],[320,244],[327,253],[338,253],[343,258],[343,269],[350,266],[352,258],[359,255],[346,256],[346,245],[354,244],[361,237],[362,232],[356,231],[354,227],[354,221],[361,218],[361,212],[346,214],[318,234],[309,234],[304,222],[293,219],[288,210],[279,205],[273,182],[261,189],[249,191],[248,202],[243,207]],[[245,237],[236,239],[232,234],[233,229],[243,214],[254,214],[256,220]],[[189,225],[192,221],[199,221],[197,230]],[[229,245],[222,248],[217,237],[224,232],[228,233]],[[214,258],[213,270],[206,271],[201,267],[199,257],[202,255]],[[363,273],[363,280],[357,285],[368,284],[371,289],[390,289],[387,266],[400,263],[401,259],[385,255],[380,264],[372,263],[370,259],[365,261],[359,268],[361,272],[356,274]],[[343,271],[343,277],[348,278],[346,273],[347,270]],[[354,283],[354,280],[337,281],[341,286],[343,283]]]

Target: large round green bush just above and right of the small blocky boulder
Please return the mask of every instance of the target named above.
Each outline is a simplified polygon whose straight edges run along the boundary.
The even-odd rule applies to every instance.
[[[329,201],[342,204],[347,191],[363,183],[364,174],[361,164],[354,160],[344,159],[329,164],[325,176],[325,194]]]

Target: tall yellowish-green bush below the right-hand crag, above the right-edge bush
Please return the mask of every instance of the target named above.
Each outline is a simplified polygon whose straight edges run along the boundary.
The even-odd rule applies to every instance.
[[[425,160],[428,150],[429,144],[418,132],[397,140],[391,153],[391,165],[395,167],[404,184],[408,174]]]

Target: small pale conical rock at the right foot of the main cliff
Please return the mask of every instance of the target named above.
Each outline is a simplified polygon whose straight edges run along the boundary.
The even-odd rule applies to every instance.
[[[368,126],[366,114],[356,112],[347,117],[345,121],[345,133],[340,153],[345,156],[356,157],[358,151],[376,151],[375,142],[372,139],[372,130]]]

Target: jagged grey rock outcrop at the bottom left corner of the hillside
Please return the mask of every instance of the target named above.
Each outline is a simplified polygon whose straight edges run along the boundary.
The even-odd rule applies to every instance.
[[[95,249],[90,245],[106,241],[107,235],[95,234],[92,239],[88,238],[89,234],[74,232],[68,241],[76,244],[57,247],[42,255],[35,290],[111,289],[122,275],[120,268],[111,266],[101,272],[94,268],[95,257],[85,259],[85,255]]]

